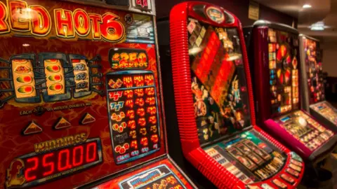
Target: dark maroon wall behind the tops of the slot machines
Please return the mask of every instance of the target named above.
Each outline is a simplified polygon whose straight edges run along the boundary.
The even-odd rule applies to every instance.
[[[156,0],[157,18],[160,19],[169,17],[171,8],[180,2],[183,2],[183,0]],[[239,20],[241,20],[242,26],[253,25],[253,22],[255,22],[255,20],[250,20],[248,18],[249,0],[208,0],[206,2],[214,3],[229,10],[234,15],[236,15]],[[291,26],[294,21],[295,26],[297,27],[296,18],[292,18],[290,15],[278,12],[277,10],[268,8],[261,4],[260,19],[269,20],[272,22],[280,22],[289,26]]]

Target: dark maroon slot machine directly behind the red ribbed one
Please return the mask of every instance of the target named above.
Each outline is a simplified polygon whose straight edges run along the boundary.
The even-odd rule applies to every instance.
[[[336,145],[336,136],[300,110],[303,67],[299,65],[298,31],[263,20],[246,31],[251,39],[258,123],[305,160],[315,162],[328,155]]]

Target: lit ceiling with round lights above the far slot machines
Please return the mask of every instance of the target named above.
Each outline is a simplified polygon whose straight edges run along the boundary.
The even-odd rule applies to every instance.
[[[298,18],[298,30],[321,39],[324,43],[337,41],[337,0],[256,0],[259,3]],[[304,4],[312,8],[304,9]],[[311,31],[310,25],[323,21],[329,27],[324,31]]]

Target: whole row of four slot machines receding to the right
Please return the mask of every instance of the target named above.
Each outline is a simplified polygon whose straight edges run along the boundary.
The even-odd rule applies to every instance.
[[[171,152],[218,188],[296,188],[329,155],[318,41],[197,1],[169,22],[150,0],[1,0],[0,188],[197,188]]]

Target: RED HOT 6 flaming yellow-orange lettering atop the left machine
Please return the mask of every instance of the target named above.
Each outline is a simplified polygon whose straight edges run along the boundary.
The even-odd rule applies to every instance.
[[[51,19],[53,15],[53,20]],[[43,6],[30,5],[25,1],[0,2],[0,34],[11,31],[33,36],[48,36],[52,28],[59,38],[92,38],[119,42],[125,36],[124,25],[114,13],[98,15],[77,8],[55,8],[49,12]]]

